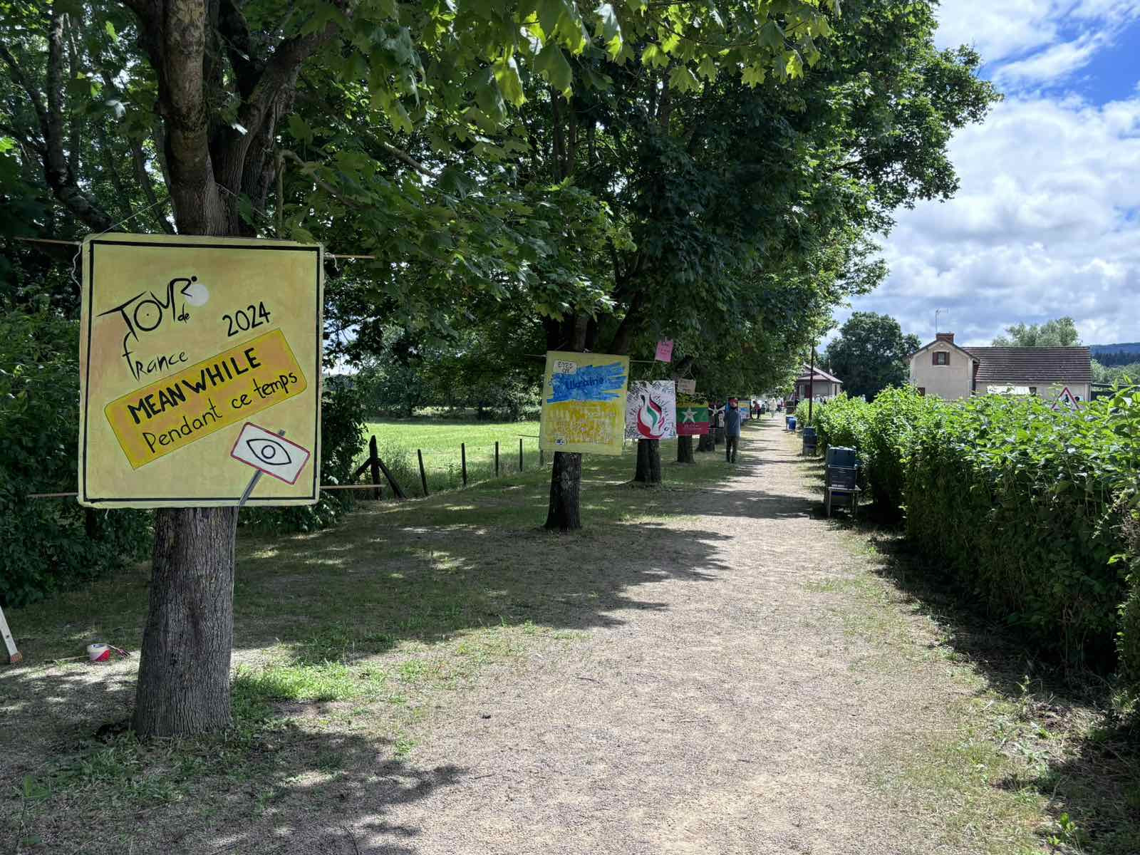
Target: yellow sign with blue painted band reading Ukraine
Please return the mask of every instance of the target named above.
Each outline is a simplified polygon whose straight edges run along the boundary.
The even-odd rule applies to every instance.
[[[621,454],[628,381],[629,357],[548,351],[539,447]]]

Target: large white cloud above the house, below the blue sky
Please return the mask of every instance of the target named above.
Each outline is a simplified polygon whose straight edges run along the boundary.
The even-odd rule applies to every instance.
[[[1010,98],[951,154],[960,193],[899,214],[890,276],[855,309],[923,341],[935,309],[963,343],[1065,315],[1085,342],[1140,341],[1140,96]]]

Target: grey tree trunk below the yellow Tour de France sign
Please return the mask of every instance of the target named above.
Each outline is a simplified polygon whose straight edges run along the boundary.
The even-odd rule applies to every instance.
[[[178,736],[228,727],[237,508],[156,512],[150,609],[135,731]]]

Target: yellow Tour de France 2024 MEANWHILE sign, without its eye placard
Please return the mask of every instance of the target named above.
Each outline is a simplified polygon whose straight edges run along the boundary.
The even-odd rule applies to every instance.
[[[316,502],[321,247],[112,234],[82,255],[80,504],[237,504],[250,470],[231,451],[254,414],[312,461],[249,504]]]

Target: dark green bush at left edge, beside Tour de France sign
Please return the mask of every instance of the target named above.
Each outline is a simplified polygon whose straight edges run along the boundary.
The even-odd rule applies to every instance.
[[[75,488],[79,325],[46,306],[0,314],[0,604],[22,605],[142,557],[150,514],[30,499]]]

